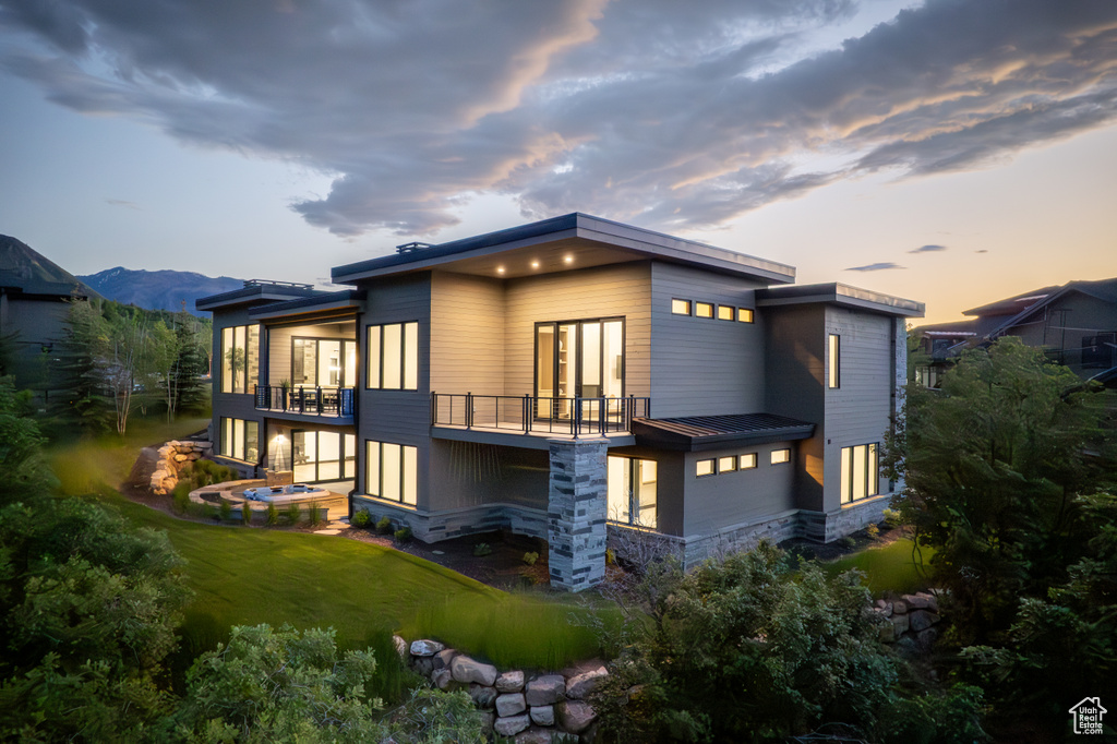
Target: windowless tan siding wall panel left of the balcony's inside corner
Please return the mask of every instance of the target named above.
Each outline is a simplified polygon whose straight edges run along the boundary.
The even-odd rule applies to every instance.
[[[503,283],[448,273],[431,282],[430,389],[503,395]]]

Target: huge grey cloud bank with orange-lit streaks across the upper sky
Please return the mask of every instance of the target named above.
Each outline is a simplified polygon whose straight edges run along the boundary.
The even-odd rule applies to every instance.
[[[529,218],[708,228],[843,179],[982,168],[1117,117],[1117,3],[927,0],[820,53],[857,10],[0,0],[13,41],[0,64],[75,111],[330,174],[328,194],[292,208],[342,236],[436,233],[487,193]]]

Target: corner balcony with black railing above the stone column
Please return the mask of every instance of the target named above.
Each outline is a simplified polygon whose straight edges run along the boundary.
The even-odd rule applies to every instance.
[[[534,435],[630,435],[633,418],[648,417],[649,398],[538,398],[431,393],[433,427]]]

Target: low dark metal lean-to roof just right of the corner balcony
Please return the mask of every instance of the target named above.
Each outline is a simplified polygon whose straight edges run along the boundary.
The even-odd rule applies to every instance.
[[[795,441],[814,435],[814,425],[772,413],[632,419],[636,443],[656,449],[701,452],[726,447]]]

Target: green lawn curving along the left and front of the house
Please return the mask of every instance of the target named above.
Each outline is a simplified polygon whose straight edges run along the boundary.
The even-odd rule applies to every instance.
[[[174,438],[197,429],[164,432]],[[51,458],[66,493],[95,492],[135,524],[166,531],[187,560],[195,598],[182,630],[183,660],[216,646],[235,624],[260,622],[333,627],[341,648],[384,648],[392,631],[409,640],[432,637],[502,667],[557,668],[596,654],[592,633],[570,623],[572,612],[585,611],[573,600],[508,594],[344,537],[176,519],[112,490],[126,477],[137,441],[160,438],[137,431],[59,447]]]

